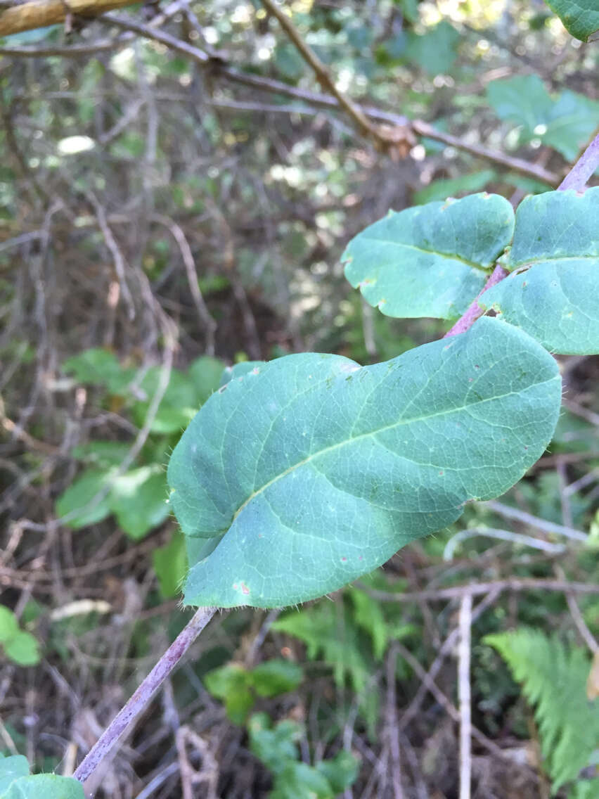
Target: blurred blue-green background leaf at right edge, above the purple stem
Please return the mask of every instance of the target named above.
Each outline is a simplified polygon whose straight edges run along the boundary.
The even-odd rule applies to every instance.
[[[538,75],[490,81],[486,98],[498,117],[522,127],[523,141],[539,138],[573,161],[599,125],[599,102],[565,89],[553,98]]]

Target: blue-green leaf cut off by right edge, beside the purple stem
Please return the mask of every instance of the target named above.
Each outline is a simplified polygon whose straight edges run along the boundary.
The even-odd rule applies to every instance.
[[[481,306],[550,352],[599,352],[598,228],[599,188],[527,197],[504,264],[518,271],[485,292]]]

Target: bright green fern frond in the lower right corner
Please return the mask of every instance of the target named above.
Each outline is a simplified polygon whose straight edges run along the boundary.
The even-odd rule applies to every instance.
[[[535,708],[545,768],[557,791],[576,779],[599,749],[599,702],[585,695],[590,660],[585,650],[566,649],[538,630],[487,635],[484,641],[506,660]]]

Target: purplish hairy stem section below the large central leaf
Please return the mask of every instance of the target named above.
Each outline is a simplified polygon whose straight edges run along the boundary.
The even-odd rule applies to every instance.
[[[109,726],[98,738],[89,753],[85,756],[81,765],[74,773],[75,779],[85,782],[85,780],[97,769],[101,761],[113,749],[125,729],[134,718],[141,714],[150,699],[160,688],[165,679],[179,664],[180,659],[196,640],[204,627],[208,624],[212,616],[216,613],[214,607],[200,607],[196,610],[188,625],[181,630],[180,634],[173,641],[169,649],[162,655],[161,659],[150,671],[141,685],[129,699],[129,702],[119,710],[117,715],[110,722]]]

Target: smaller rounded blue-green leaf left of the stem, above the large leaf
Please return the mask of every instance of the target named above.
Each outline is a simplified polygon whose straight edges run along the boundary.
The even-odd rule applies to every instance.
[[[498,194],[416,206],[353,238],[345,276],[387,316],[458,319],[513,231],[514,211]]]

